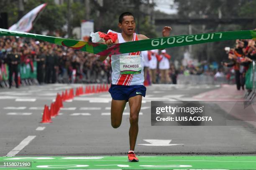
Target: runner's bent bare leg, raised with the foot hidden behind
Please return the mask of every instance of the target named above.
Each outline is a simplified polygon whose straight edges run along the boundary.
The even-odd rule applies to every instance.
[[[126,105],[126,100],[113,100],[111,102],[111,125],[113,128],[118,128],[122,122],[123,110]]]

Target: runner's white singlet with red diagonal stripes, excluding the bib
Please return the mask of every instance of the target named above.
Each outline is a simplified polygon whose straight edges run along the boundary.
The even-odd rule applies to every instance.
[[[133,40],[138,40],[136,33],[133,33]],[[118,34],[118,42],[123,43],[122,34]],[[140,74],[120,74],[120,56],[122,55],[139,55],[141,58],[141,73]],[[143,72],[143,59],[141,52],[130,52],[125,54],[111,55],[111,67],[112,67],[112,84],[113,85],[143,85],[144,72]]]

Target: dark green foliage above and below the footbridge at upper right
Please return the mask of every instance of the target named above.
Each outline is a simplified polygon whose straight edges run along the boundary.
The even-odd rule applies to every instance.
[[[180,18],[218,18],[219,14],[221,14],[222,18],[256,18],[256,0],[175,0],[175,3],[178,5],[178,16]],[[248,23],[246,25],[218,25],[210,23],[206,24],[204,29],[203,25],[192,25],[192,33],[248,30],[254,29],[255,25],[256,23]],[[175,29],[175,25],[171,26]],[[185,33],[187,32],[177,32],[177,35]],[[193,45],[192,56],[199,60],[209,59],[209,62],[221,62],[227,60],[224,47],[233,47],[234,44],[235,41],[230,40]],[[181,59],[184,49],[178,49],[176,53],[179,51],[178,55]]]

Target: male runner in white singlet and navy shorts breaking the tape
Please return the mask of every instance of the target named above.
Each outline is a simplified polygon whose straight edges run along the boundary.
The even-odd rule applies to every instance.
[[[135,19],[132,13],[125,12],[119,17],[118,27],[122,30],[118,34],[118,39],[113,42],[109,39],[105,44],[118,44],[128,41],[148,39],[145,35],[137,35],[135,33]],[[164,27],[163,36],[170,35],[171,27]],[[107,56],[100,56],[100,60],[105,60]],[[146,87],[143,85],[144,76],[141,67],[141,52],[131,52],[127,54],[112,55],[112,85],[109,92],[112,97],[111,102],[111,125],[118,128],[122,122],[123,110],[126,102],[130,106],[130,150],[128,152],[128,161],[138,162],[138,158],[134,153],[136,138],[138,135],[138,115],[141,110],[142,96],[146,95]]]

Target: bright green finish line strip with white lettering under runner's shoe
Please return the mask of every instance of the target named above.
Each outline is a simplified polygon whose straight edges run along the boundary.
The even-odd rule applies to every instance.
[[[147,169],[256,170],[256,156],[127,156],[0,157],[0,170]]]

